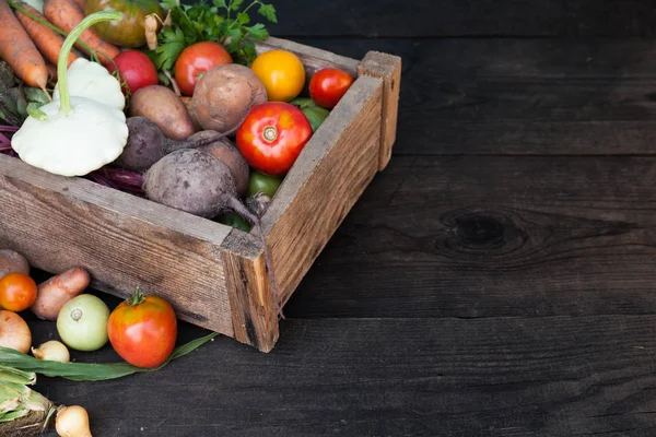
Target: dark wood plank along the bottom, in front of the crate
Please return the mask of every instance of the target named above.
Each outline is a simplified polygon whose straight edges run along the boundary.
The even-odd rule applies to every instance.
[[[84,405],[94,437],[656,432],[654,315],[282,326],[271,354],[219,338],[154,374],[36,388]]]

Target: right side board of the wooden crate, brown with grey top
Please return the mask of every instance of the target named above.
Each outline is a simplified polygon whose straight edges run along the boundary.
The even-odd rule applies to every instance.
[[[378,168],[383,81],[359,78],[304,146],[262,217],[284,303]]]

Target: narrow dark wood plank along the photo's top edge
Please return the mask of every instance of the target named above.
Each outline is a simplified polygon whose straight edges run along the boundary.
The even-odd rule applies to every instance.
[[[187,0],[191,1],[191,0]],[[649,0],[333,0],[321,8],[278,0],[277,36],[651,37]]]

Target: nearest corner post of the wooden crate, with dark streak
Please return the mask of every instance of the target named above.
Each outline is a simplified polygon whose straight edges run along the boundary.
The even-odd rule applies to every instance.
[[[233,231],[221,246],[234,336],[261,352],[278,341],[278,307],[261,244]]]

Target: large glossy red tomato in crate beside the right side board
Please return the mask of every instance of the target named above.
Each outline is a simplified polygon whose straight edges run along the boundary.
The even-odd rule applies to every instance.
[[[246,162],[270,176],[286,174],[311,137],[305,115],[285,102],[255,105],[236,132]]]

